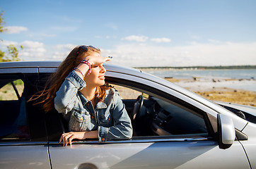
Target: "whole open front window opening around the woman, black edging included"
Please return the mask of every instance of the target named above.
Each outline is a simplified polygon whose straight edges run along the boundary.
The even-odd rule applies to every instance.
[[[132,139],[211,137],[206,113],[195,106],[144,84],[117,79],[106,82],[117,89],[132,120]],[[68,131],[68,124],[57,111],[46,113],[46,124],[50,141],[58,141],[60,135]]]

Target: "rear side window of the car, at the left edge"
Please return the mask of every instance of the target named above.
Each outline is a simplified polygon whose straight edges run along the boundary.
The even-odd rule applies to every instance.
[[[29,139],[24,82],[17,76],[1,76],[0,110],[0,140]]]

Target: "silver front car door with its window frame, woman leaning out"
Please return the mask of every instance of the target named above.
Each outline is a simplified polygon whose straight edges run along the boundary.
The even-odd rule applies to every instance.
[[[198,108],[195,102],[161,92],[160,87],[153,87],[158,84],[150,85],[152,82],[141,85],[127,79],[123,83],[121,79],[109,81],[148,96],[141,108],[144,113],[139,115],[143,125],[133,123],[134,133],[139,131],[139,134],[130,140],[107,143],[87,140],[71,146],[62,146],[57,138],[52,139],[49,145],[52,168],[250,168],[240,142],[235,141],[228,149],[219,148],[214,125],[217,119],[207,113],[211,108],[202,105]],[[131,110],[129,105],[136,97],[122,99]]]

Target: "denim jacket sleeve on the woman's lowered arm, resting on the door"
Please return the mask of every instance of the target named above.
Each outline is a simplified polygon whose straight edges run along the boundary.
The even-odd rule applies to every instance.
[[[100,142],[106,142],[107,139],[132,138],[132,123],[117,92],[115,92],[113,99],[115,102],[112,111],[113,125],[111,127],[98,127],[98,138]]]

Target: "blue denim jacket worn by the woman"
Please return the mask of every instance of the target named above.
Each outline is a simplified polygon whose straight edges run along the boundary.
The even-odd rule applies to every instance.
[[[72,71],[54,98],[56,110],[63,113],[69,123],[69,132],[98,130],[100,142],[130,139],[132,123],[117,91],[108,89],[104,102],[98,102],[93,108],[91,101],[79,92],[85,86],[86,82]]]

